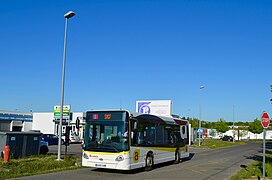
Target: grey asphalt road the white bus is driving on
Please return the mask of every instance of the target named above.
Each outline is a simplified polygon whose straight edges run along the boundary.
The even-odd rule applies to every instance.
[[[56,147],[50,147],[53,153]],[[69,152],[70,149],[70,152]],[[80,145],[72,145],[68,154],[76,154]],[[95,168],[83,168],[78,170],[62,171],[44,175],[17,178],[21,180],[180,180],[180,179],[228,179],[235,175],[241,168],[260,158],[262,155],[262,143],[250,142],[240,146],[220,149],[191,149],[191,159],[180,164],[164,163],[157,165],[152,171],[143,169],[133,171],[103,170]],[[80,152],[79,152],[80,153]]]

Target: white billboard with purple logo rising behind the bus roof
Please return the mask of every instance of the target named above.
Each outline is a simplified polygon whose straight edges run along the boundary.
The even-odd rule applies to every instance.
[[[143,100],[136,101],[136,112],[143,114],[154,114],[158,116],[171,116],[171,100]]]

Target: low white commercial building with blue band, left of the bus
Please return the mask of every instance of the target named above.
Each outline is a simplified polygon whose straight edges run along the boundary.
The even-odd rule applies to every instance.
[[[82,139],[85,124],[83,116],[83,112],[71,112],[69,118],[63,119],[62,133],[65,133],[66,126],[70,125],[72,132],[76,132]],[[80,120],[79,129],[76,128],[77,118]],[[0,111],[0,132],[38,130],[44,134],[58,134],[58,128],[59,119],[54,117],[54,112]]]

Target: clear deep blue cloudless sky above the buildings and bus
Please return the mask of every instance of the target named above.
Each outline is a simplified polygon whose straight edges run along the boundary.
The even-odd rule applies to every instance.
[[[272,116],[270,0],[1,0],[1,110],[60,104],[69,10],[73,112],[172,100],[173,114],[199,118],[201,105],[206,121]]]

